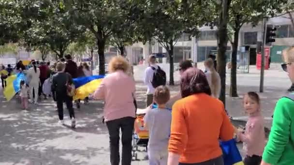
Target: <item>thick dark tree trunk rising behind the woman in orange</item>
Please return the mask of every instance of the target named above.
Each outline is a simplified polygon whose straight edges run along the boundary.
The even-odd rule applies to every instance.
[[[218,27],[218,55],[217,69],[221,77],[221,96],[220,100],[225,105],[226,102],[226,50],[228,43],[227,24],[228,24],[228,6],[231,0],[222,0],[222,12]]]

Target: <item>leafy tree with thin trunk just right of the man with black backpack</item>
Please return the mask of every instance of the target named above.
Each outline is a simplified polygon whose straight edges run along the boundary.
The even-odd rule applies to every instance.
[[[197,27],[208,21],[206,5],[207,1],[202,0],[146,0],[137,5],[140,17],[135,30],[141,32],[138,38],[155,39],[167,50],[171,85],[174,85],[174,46],[183,33],[198,34]]]

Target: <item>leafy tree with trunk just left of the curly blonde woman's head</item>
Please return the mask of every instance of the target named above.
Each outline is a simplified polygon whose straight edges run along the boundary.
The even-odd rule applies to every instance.
[[[68,0],[66,10],[77,25],[87,28],[96,39],[99,55],[99,74],[105,74],[104,50],[109,37],[121,31],[121,22],[126,20],[130,0]],[[114,35],[115,36],[115,35]],[[119,35],[118,35],[119,36]]]

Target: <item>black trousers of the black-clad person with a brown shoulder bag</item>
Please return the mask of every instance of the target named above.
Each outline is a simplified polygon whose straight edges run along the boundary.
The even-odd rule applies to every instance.
[[[56,94],[56,101],[57,101],[57,108],[58,108],[58,116],[59,120],[63,120],[63,103],[65,102],[66,108],[69,111],[70,118],[74,117],[74,110],[73,110],[73,97],[64,95],[64,94]]]

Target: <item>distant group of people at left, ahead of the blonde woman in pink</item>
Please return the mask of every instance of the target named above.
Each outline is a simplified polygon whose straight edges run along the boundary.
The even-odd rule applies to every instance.
[[[8,76],[18,72],[23,72],[27,79],[26,81],[21,81],[19,85],[19,96],[24,110],[29,109],[28,102],[37,104],[43,98],[47,99],[48,96],[52,96],[57,103],[59,123],[64,124],[63,103],[66,103],[67,109],[70,112],[70,118],[72,119],[72,126],[75,126],[73,96],[65,94],[67,94],[68,84],[73,84],[73,78],[92,75],[92,71],[86,62],[80,63],[77,66],[71,55],[65,55],[65,58],[61,58],[52,66],[50,62],[35,60],[31,60],[27,66],[22,61],[19,61],[15,68],[12,68],[11,65],[7,67],[2,65],[0,75],[3,89],[7,85],[6,79]],[[46,80],[47,83],[44,85]],[[88,98],[84,101],[88,103]],[[76,107],[80,108],[80,100],[76,101]]]

